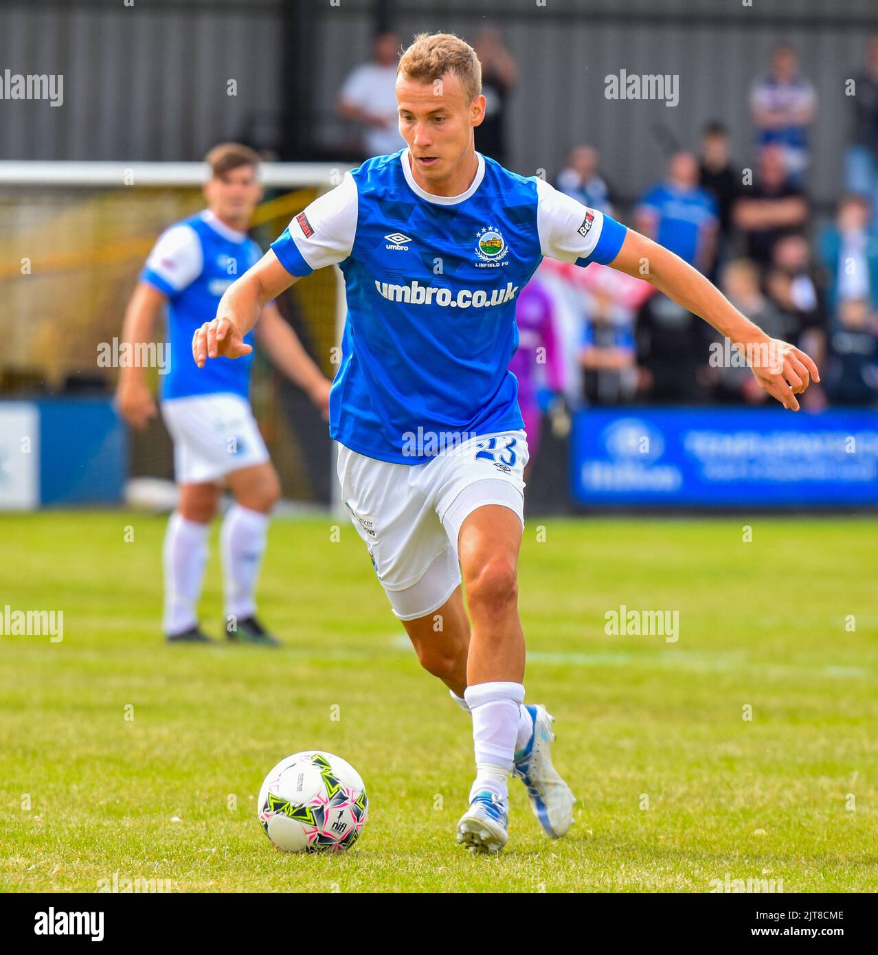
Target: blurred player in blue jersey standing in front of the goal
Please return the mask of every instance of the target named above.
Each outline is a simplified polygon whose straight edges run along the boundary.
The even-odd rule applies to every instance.
[[[161,414],[174,441],[180,505],[164,540],[165,637],[173,643],[212,642],[198,624],[197,605],[210,520],[225,483],[235,499],[221,533],[226,635],[273,645],[277,641],[256,617],[254,590],[280,483],[247,398],[254,336],[248,333],[242,346],[246,356],[212,362],[207,371],[196,368],[191,348],[193,333],[216,314],[225,289],[262,254],[246,235],[262,198],[259,157],[246,146],[225,143],[206,161],[207,208],[161,234],[125,313],[123,338],[152,342],[156,317],[168,307],[170,369],[162,384]],[[274,363],[326,409],[330,383],[277,307],[267,303],[255,318],[256,335]],[[142,368],[120,371],[118,407],[136,428],[156,414]]]

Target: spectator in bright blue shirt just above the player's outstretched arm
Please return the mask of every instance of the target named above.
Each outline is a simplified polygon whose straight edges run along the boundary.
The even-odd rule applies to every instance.
[[[675,153],[667,180],[643,197],[634,218],[639,232],[702,272],[710,270],[716,255],[717,201],[698,186],[692,153]]]

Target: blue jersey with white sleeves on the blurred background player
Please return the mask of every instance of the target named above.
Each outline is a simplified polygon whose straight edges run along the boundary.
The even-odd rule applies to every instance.
[[[140,279],[168,297],[169,369],[160,375],[161,397],[232,393],[247,397],[253,352],[243,358],[212,358],[203,369],[192,357],[195,330],[216,317],[225,289],[262,258],[246,233],[222,223],[211,212],[183,219],[165,230]],[[253,332],[246,335],[253,344]]]

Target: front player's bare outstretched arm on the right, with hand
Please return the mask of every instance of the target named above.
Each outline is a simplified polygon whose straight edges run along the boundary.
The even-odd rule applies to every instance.
[[[820,381],[820,371],[809,355],[788,342],[766,335],[696,268],[663,245],[629,229],[619,254],[610,265],[649,282],[677,305],[699,315],[725,335],[746,355],[762,391],[777,398],[784,408],[799,411],[796,395],[803,393],[812,377]],[[760,356],[764,356],[764,361]]]

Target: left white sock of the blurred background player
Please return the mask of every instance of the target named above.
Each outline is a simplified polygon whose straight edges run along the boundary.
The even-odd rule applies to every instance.
[[[198,623],[196,607],[202,595],[207,563],[209,524],[186,520],[175,511],[164,535],[164,632],[182,633]]]

